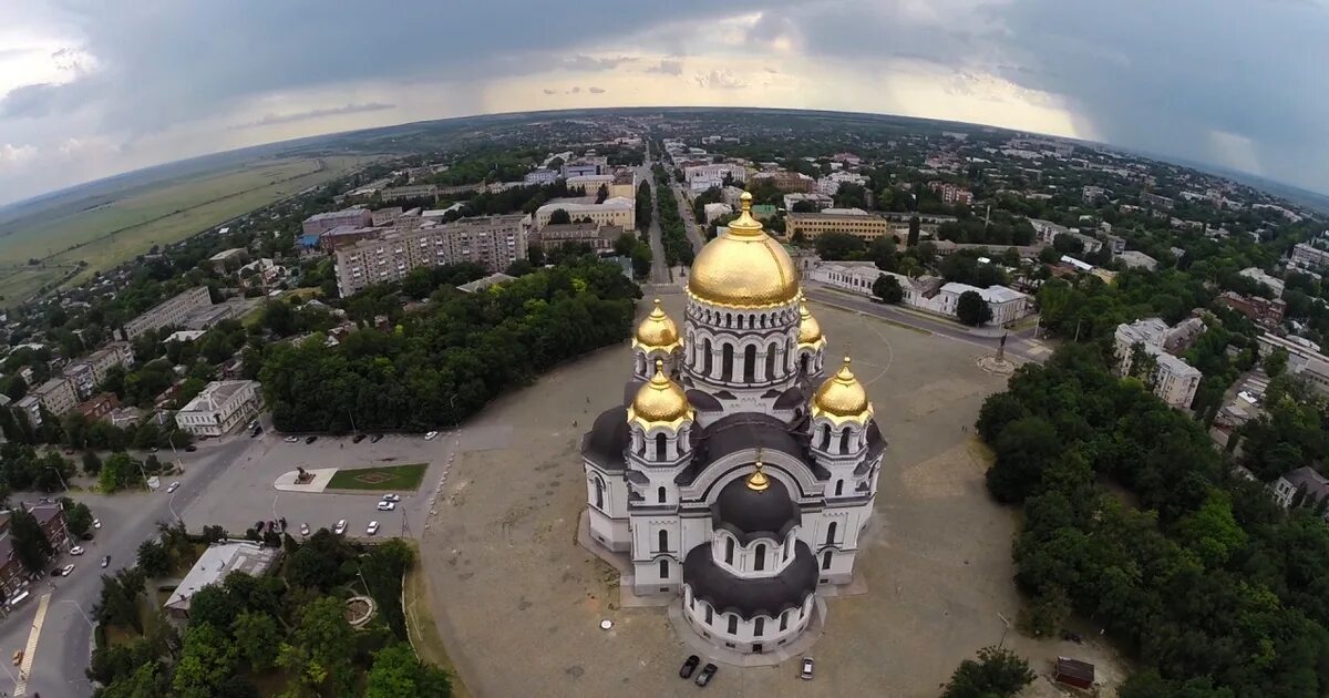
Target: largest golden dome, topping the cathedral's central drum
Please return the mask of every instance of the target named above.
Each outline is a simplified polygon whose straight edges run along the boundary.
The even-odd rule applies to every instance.
[[[744,191],[743,213],[728,233],[702,249],[688,273],[692,298],[726,307],[780,306],[799,296],[799,270],[779,242],[752,218],[752,194]]]

